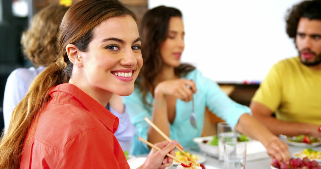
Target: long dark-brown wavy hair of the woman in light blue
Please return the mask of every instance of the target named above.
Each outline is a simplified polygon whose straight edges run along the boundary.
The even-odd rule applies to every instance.
[[[151,103],[146,101],[146,95],[149,90],[153,94],[153,82],[164,66],[160,55],[160,46],[168,37],[169,20],[171,17],[182,18],[182,13],[176,8],[159,6],[147,11],[140,23],[139,33],[142,38],[144,64],[135,84],[140,87],[143,102],[147,105],[151,105]],[[195,67],[192,65],[181,64],[175,68],[175,74],[179,76],[181,73],[187,73],[194,69]]]

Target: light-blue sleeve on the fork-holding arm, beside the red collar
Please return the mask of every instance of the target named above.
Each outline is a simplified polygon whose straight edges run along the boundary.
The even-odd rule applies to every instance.
[[[144,120],[145,117],[151,119],[151,111],[144,106],[141,94],[138,89],[134,90],[134,93],[130,96],[122,97],[124,104],[126,105],[127,112],[130,116],[130,120],[135,127],[135,135],[132,140],[131,152],[133,155],[145,154],[150,150],[148,146],[142,141],[138,140],[138,137],[142,137],[148,140],[147,130],[149,124]]]

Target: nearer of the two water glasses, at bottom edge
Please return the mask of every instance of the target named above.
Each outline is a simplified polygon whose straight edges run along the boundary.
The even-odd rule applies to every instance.
[[[224,169],[245,169],[246,143],[226,142],[224,144]]]

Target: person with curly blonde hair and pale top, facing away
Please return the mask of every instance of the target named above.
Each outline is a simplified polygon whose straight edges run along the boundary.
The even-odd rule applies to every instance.
[[[33,67],[17,68],[8,77],[4,89],[3,115],[4,129],[8,130],[13,109],[28,92],[33,79],[39,75],[58,54],[57,34],[59,24],[68,7],[51,4],[31,20],[28,30],[21,37],[22,50]]]

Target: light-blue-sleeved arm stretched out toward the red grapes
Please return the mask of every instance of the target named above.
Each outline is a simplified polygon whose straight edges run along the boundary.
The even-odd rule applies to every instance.
[[[262,142],[270,156],[276,157],[279,161],[290,159],[287,144],[280,141],[264,125],[254,119],[248,107],[232,101],[215,82],[201,73],[198,74],[197,79],[198,84],[208,91],[206,105],[212,112],[227,121],[231,127]]]

